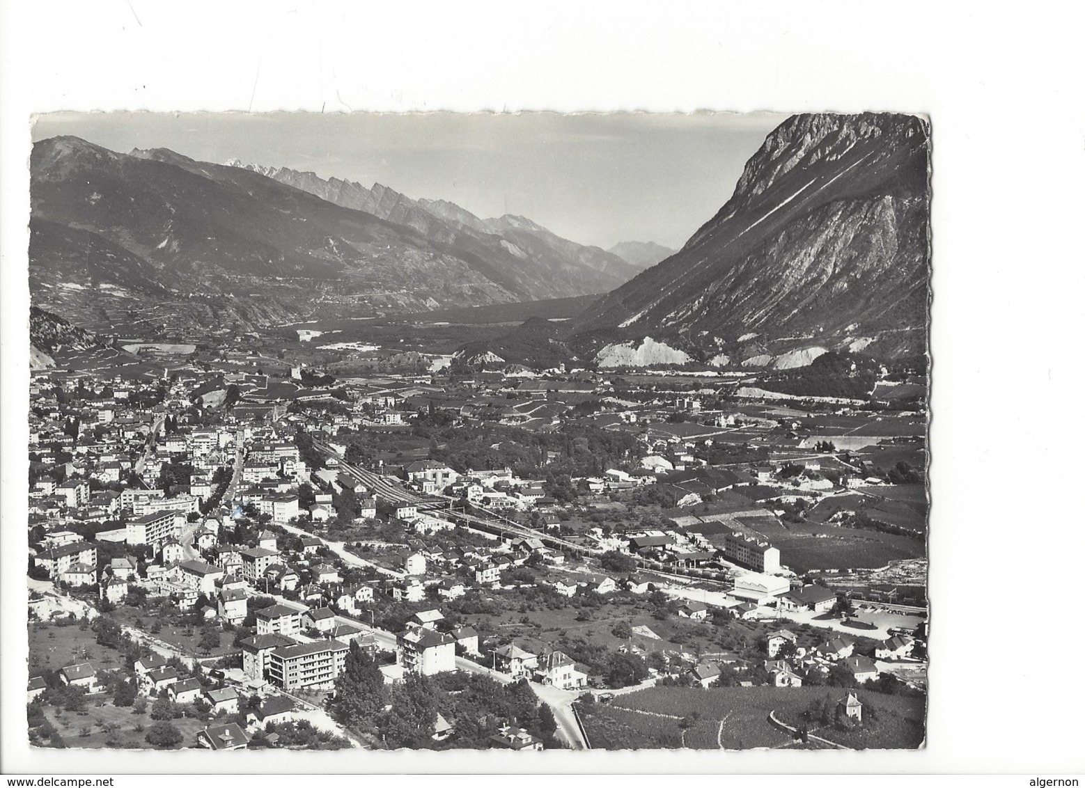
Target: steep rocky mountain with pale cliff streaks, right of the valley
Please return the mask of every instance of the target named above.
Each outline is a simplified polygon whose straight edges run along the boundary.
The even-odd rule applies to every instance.
[[[789,118],[677,254],[576,321],[578,345],[651,335],[706,359],[757,335],[774,352],[859,338],[923,352],[929,140],[906,115]]]

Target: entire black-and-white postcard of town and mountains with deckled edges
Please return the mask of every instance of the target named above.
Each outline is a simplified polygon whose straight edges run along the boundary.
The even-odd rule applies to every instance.
[[[924,747],[931,135],[35,117],[30,745]]]

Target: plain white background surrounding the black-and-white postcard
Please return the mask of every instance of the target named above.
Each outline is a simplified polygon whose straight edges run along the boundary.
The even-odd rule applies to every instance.
[[[2,771],[1082,771],[1082,25],[1070,3],[948,4],[4,2]],[[927,748],[537,761],[30,751],[28,124],[34,112],[110,108],[929,113]]]

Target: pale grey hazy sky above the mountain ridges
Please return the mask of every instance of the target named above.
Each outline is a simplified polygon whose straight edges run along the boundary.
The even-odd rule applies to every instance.
[[[784,115],[246,115],[61,113],[35,141],[75,134],[113,151],[311,170],[480,217],[520,214],[582,244],[677,248],[727,202]]]

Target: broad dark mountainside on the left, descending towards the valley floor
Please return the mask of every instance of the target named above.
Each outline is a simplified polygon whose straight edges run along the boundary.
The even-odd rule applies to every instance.
[[[407,223],[248,169],[75,137],[35,144],[30,175],[31,295],[95,330],[130,327],[126,315],[140,331],[247,330],[609,286],[575,263],[567,275],[540,270],[501,238],[480,241],[436,217],[410,227],[429,215],[390,191],[373,209]]]

